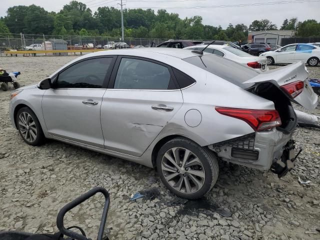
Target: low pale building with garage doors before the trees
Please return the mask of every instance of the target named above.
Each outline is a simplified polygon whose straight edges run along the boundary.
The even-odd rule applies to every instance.
[[[281,39],[294,36],[294,30],[265,30],[265,31],[249,31],[248,43],[265,42],[270,44],[281,45]]]

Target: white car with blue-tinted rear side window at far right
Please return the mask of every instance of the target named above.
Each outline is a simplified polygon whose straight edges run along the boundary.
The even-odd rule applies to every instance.
[[[264,52],[260,56],[267,58],[268,65],[303,61],[309,66],[316,66],[320,59],[320,47],[307,43],[294,43],[275,51]]]

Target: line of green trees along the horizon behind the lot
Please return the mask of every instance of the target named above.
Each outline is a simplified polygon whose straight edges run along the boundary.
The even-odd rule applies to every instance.
[[[6,16],[0,17],[0,33],[48,35],[120,36],[121,12],[114,7],[98,7],[92,12],[86,4],[76,0],[64,5],[59,12],[48,12],[34,4],[9,7]],[[243,23],[204,25],[201,16],[181,19],[177,13],[165,9],[124,9],[124,36],[176,39],[247,40],[248,31],[277,29],[268,19],[254,20],[247,27]],[[320,22],[297,18],[284,19],[282,30],[296,30],[298,36],[320,36]]]

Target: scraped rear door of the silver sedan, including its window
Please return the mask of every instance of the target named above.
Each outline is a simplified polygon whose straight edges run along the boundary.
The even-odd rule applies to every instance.
[[[140,156],[181,107],[182,93],[163,63],[125,56],[114,68],[101,106],[105,148]]]

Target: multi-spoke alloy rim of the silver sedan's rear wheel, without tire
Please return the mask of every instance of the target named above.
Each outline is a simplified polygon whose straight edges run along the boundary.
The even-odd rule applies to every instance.
[[[161,160],[164,179],[182,193],[197,192],[204,184],[205,172],[199,158],[183,147],[167,150]]]

